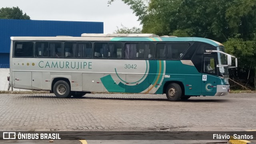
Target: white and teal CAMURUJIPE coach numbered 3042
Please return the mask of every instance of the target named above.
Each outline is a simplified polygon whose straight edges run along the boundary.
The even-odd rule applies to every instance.
[[[219,42],[196,37],[11,37],[10,84],[57,98],[90,92],[166,94],[169,101],[225,96],[234,58]]]

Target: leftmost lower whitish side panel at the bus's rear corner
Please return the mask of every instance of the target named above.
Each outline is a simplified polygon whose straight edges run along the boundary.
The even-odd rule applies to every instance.
[[[32,88],[32,72],[15,72],[14,88]]]

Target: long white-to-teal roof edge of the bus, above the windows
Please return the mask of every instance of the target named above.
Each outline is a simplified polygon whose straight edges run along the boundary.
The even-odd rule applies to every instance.
[[[197,37],[159,37],[154,34],[82,34],[81,37],[56,36],[56,37],[11,37],[11,40],[52,40],[52,41],[158,41],[158,42],[205,42],[213,46],[223,46],[221,43],[207,38]],[[110,37],[113,36],[113,37]],[[156,37],[154,37],[156,36]]]

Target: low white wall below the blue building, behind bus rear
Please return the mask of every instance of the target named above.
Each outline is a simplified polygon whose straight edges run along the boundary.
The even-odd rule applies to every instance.
[[[10,68],[0,68],[0,91],[7,91],[8,90],[8,80],[7,76],[9,76]],[[12,88],[10,88],[10,91]],[[28,90],[22,90],[18,88],[14,88],[14,91],[28,91]]]

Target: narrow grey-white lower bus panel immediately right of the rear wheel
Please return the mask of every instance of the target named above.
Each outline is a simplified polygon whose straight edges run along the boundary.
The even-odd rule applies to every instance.
[[[82,73],[71,74],[71,90],[82,91]]]

